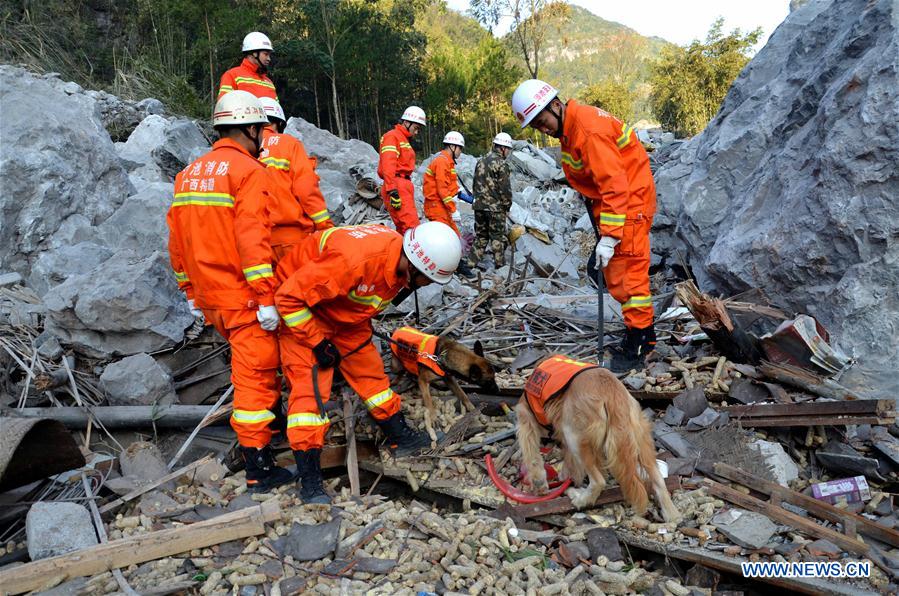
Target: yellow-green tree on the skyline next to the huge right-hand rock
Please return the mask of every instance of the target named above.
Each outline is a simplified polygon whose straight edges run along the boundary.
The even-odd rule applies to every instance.
[[[705,43],[666,47],[653,65],[650,101],[665,128],[688,136],[701,132],[749,62],[761,29],[724,35],[723,26],[723,19],[716,20]]]

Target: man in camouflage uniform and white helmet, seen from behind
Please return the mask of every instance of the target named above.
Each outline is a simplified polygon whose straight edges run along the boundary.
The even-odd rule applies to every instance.
[[[472,266],[484,257],[488,245],[496,268],[505,264],[506,216],[512,207],[512,183],[506,163],[510,153],[512,137],[501,132],[493,139],[493,150],[478,161],[474,170]]]

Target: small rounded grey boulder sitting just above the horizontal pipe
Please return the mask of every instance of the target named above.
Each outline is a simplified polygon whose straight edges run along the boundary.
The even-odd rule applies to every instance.
[[[143,352],[108,365],[100,385],[111,406],[168,405],[176,399],[172,375]]]

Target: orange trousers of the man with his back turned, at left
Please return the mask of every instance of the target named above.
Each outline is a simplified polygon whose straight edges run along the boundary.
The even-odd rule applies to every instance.
[[[231,383],[234,412],[231,427],[242,447],[265,447],[272,431],[269,424],[280,407],[277,335],[262,329],[252,311],[204,311],[231,345]],[[244,324],[244,320],[252,321]]]

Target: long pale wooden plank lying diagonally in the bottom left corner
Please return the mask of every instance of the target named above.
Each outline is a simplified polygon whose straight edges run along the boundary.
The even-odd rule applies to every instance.
[[[259,506],[247,507],[189,526],[113,540],[65,555],[0,570],[0,586],[3,586],[3,591],[7,594],[21,594],[36,590],[54,578],[62,578],[65,581],[95,575],[229,540],[257,536],[265,533],[266,522],[280,518],[278,499],[273,498]]]

